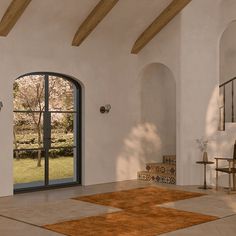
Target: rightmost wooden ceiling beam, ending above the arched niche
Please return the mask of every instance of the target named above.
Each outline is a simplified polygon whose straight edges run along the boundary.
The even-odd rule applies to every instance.
[[[191,0],[173,0],[138,37],[131,53],[138,54]]]

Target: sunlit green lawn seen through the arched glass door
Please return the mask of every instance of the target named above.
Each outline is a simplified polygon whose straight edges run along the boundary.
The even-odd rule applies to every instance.
[[[49,180],[73,178],[73,157],[60,157],[49,160]],[[44,160],[37,167],[37,160],[14,159],[14,183],[29,183],[44,180]]]

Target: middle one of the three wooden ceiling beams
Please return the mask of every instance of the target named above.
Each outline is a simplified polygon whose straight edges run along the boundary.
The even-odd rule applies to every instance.
[[[72,46],[79,46],[119,0],[101,0],[77,30]]]

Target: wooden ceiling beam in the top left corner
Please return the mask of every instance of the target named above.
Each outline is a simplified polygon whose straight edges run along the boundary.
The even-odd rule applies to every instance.
[[[12,0],[0,22],[0,36],[7,36],[31,0]]]

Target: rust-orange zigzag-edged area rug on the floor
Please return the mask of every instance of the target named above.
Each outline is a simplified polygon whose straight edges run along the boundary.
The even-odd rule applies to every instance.
[[[217,217],[157,207],[203,194],[146,187],[78,197],[76,200],[112,206],[121,212],[66,221],[45,228],[70,236],[156,236],[216,220]]]

